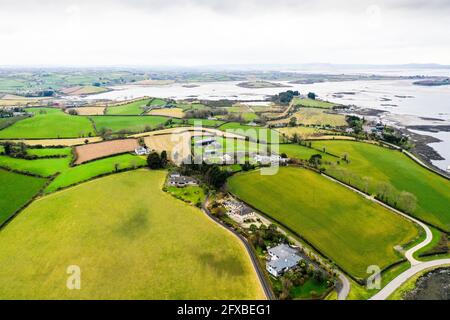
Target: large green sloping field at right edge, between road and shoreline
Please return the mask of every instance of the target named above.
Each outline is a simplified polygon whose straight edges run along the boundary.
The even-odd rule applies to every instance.
[[[347,154],[350,163],[327,167],[327,173],[369,193],[378,193],[380,183],[390,185],[389,202],[399,192],[417,198],[412,214],[441,229],[450,231],[450,181],[434,174],[399,151],[351,141],[317,141],[313,147],[326,148],[337,156]]]

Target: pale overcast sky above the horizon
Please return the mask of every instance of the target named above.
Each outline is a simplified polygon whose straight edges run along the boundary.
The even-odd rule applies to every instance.
[[[0,0],[0,65],[450,64],[449,0]]]

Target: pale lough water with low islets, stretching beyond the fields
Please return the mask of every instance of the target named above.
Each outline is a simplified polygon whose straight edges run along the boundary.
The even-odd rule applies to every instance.
[[[450,125],[450,86],[426,87],[412,84],[412,80],[342,81],[315,84],[280,83],[285,88],[249,89],[237,86],[237,81],[196,83],[196,87],[184,87],[182,83],[163,86],[126,85],[112,87],[113,91],[90,95],[82,99],[124,100],[142,96],[172,99],[230,99],[262,101],[269,95],[287,89],[300,93],[315,92],[321,99],[385,110],[389,121],[397,125]],[[78,97],[79,98],[79,97]],[[392,117],[391,117],[392,116]],[[425,119],[424,119],[425,118]],[[432,119],[434,120],[432,120]],[[386,119],[385,122],[389,121]],[[442,133],[442,132],[441,132]],[[450,135],[438,133],[443,142],[431,144],[446,160],[434,164],[442,169],[450,166]],[[433,135],[422,132],[422,134]],[[433,135],[434,136],[434,135]]]

